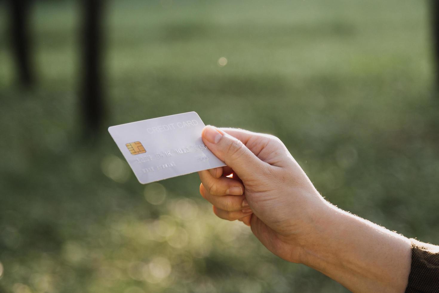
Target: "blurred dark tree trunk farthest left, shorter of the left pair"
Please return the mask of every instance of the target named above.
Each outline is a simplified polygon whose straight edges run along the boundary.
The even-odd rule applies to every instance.
[[[12,51],[18,82],[25,87],[31,87],[34,83],[29,33],[30,6],[30,0],[9,0]]]

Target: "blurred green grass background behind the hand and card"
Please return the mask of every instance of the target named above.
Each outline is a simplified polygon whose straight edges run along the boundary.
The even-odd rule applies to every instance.
[[[345,292],[214,217],[196,174],[143,186],[105,130],[81,141],[76,5],[35,6],[36,90],[14,86],[0,42],[0,291]],[[108,126],[196,111],[277,135],[331,203],[439,243],[427,3],[113,1],[106,15]]]

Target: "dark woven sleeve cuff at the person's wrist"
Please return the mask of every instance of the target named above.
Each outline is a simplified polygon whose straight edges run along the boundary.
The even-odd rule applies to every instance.
[[[416,239],[412,241],[412,264],[406,293],[439,293],[439,251]]]

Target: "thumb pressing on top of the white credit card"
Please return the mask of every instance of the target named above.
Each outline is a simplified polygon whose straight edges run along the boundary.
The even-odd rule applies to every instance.
[[[265,167],[263,161],[242,141],[218,128],[210,125],[204,127],[202,139],[209,150],[232,168],[242,180],[251,179]]]

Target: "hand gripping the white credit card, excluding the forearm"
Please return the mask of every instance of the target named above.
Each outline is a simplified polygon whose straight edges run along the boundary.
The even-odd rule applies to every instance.
[[[199,172],[200,193],[214,213],[243,221],[271,252],[300,262],[327,204],[284,144],[272,135],[212,126],[202,139],[227,164]]]

